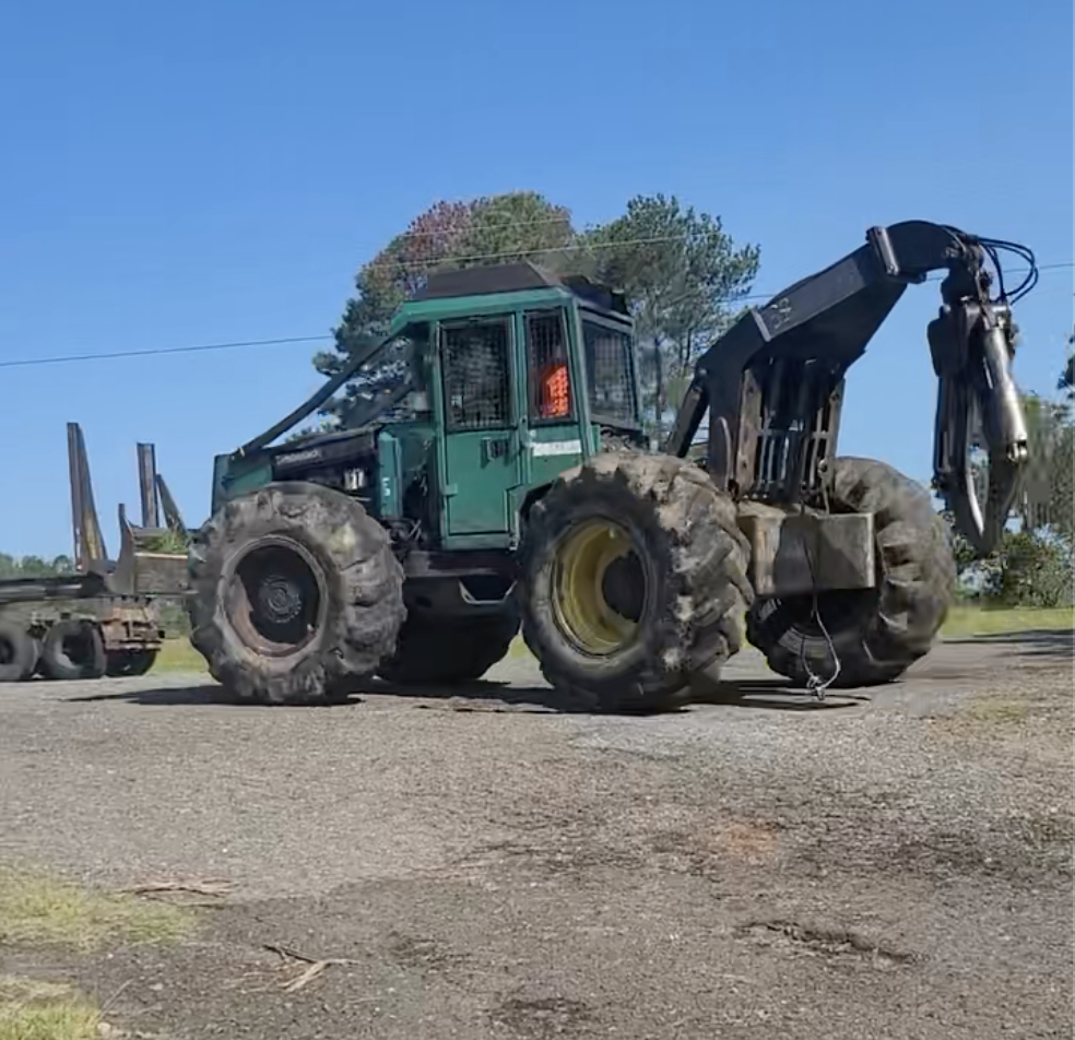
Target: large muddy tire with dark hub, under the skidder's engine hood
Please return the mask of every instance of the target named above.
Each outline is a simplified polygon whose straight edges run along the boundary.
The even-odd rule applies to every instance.
[[[190,641],[233,695],[345,698],[391,655],[403,571],[385,529],[320,484],[269,484],[225,505],[189,551]]]

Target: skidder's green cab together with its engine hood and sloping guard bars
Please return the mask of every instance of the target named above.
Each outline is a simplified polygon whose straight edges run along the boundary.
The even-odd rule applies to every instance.
[[[345,386],[347,429],[273,445]],[[423,547],[510,549],[528,503],[610,441],[643,444],[623,294],[532,263],[436,272],[380,344],[218,457],[213,511],[311,481]]]

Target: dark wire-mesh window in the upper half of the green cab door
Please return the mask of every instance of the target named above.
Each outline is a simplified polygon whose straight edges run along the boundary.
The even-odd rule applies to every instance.
[[[449,429],[510,425],[508,324],[503,318],[441,328]]]

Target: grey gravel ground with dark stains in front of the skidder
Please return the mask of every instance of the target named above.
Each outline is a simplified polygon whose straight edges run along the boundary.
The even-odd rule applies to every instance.
[[[0,687],[0,860],[233,886],[194,945],[0,972],[175,1038],[1070,1037],[1071,634],[820,704],[726,676],[654,718],[557,710],[527,660],[305,710]],[[265,944],[347,962],[290,993]]]

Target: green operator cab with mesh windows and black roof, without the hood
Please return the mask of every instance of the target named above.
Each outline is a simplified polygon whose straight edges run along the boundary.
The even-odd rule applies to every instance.
[[[535,489],[603,438],[641,440],[630,315],[604,286],[531,263],[435,273],[390,334],[421,344],[412,418],[437,433],[445,548],[510,547]],[[386,424],[382,444],[409,436]]]

